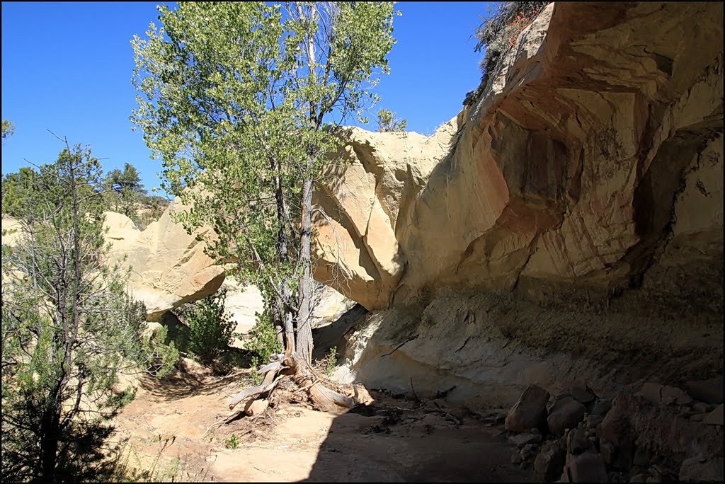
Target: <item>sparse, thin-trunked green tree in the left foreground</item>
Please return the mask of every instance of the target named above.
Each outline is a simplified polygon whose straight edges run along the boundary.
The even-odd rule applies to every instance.
[[[102,480],[108,421],[133,397],[114,385],[143,360],[145,309],[103,262],[98,160],[67,146],[38,170],[22,239],[2,247],[1,477]]]

